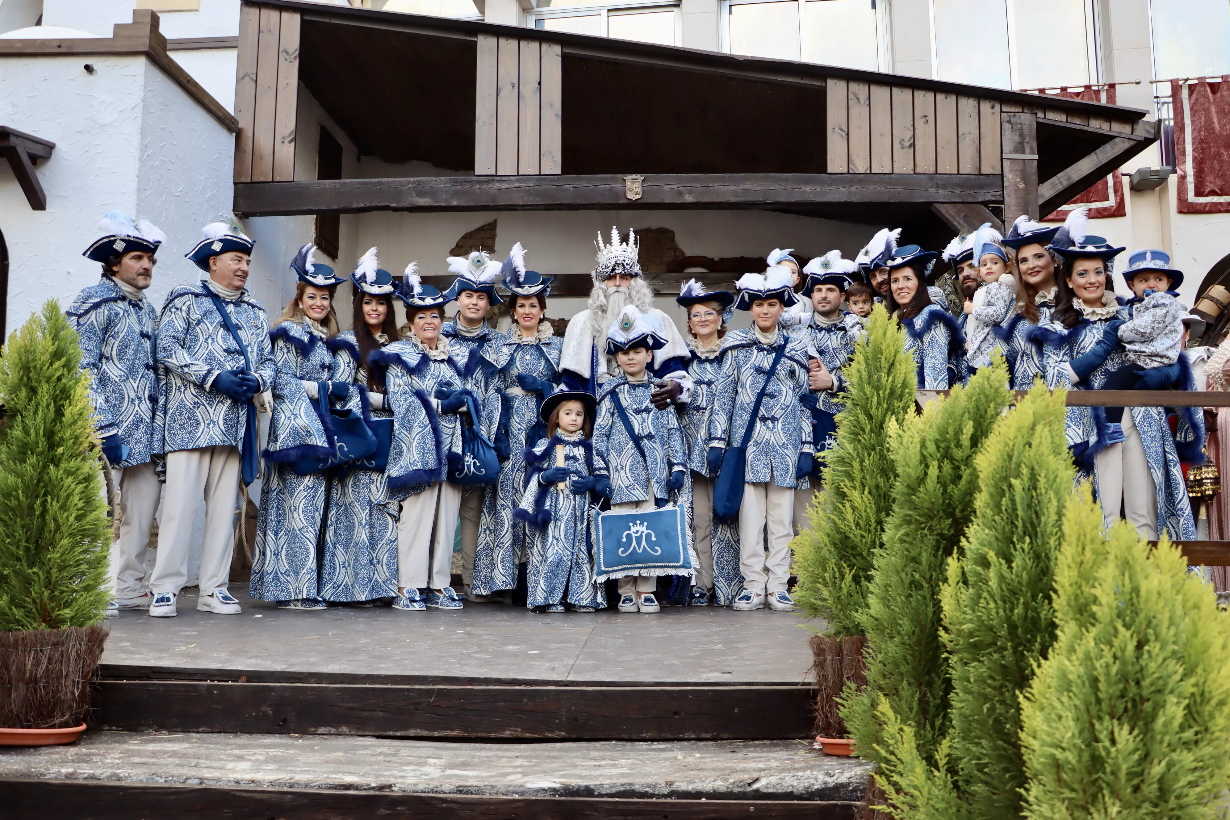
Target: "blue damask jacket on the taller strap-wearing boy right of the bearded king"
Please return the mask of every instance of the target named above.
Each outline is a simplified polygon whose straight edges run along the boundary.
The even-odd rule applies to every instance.
[[[782,345],[781,360],[769,380],[769,366]],[[753,419],[752,406],[766,381],[760,412]],[[779,331],[772,343],[764,344],[755,328],[728,333],[708,422],[708,445],[737,447],[750,425],[744,481],[795,487],[798,455],[813,451],[812,419],[804,416],[802,404],[806,395],[807,345],[801,339]]]

